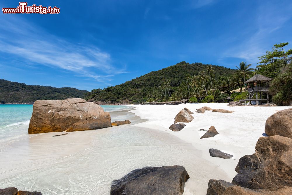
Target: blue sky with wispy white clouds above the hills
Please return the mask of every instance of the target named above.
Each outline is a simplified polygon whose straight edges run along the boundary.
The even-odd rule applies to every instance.
[[[27,3],[60,13],[0,13],[1,79],[90,91],[181,61],[255,67],[274,44],[292,47],[291,0]]]

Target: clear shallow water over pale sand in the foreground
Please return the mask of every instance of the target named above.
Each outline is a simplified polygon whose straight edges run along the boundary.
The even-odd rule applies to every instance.
[[[112,112],[111,117],[132,123],[58,137],[53,135],[60,132],[26,134],[5,142],[0,148],[0,188],[43,194],[109,194],[113,180],[136,168],[182,165],[191,177],[185,194],[206,194],[209,178],[225,175],[201,158],[201,151],[191,144],[163,131],[135,127],[145,120],[133,113]]]

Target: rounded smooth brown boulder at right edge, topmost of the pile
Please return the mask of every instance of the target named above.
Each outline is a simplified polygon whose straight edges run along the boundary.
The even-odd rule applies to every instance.
[[[265,133],[268,136],[281,135],[292,138],[292,108],[278,111],[266,120]]]

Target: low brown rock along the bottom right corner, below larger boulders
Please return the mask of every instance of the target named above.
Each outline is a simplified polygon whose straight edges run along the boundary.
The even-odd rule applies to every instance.
[[[283,195],[292,194],[291,187],[251,190],[224,180],[209,180],[207,195]]]

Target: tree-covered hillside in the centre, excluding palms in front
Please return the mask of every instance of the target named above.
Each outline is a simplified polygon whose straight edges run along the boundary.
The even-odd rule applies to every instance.
[[[178,93],[179,88],[191,86],[191,80],[187,78],[196,77],[205,72],[208,65],[202,63],[180,62],[176,65],[152,71],[143,76],[137,77],[123,84],[119,84],[104,89],[94,89],[86,94],[89,101],[98,101],[104,103],[140,103],[145,101],[167,101],[171,100],[174,92]],[[214,70],[214,71],[213,71]],[[229,77],[234,74],[235,70],[223,66],[212,65],[211,75],[206,74],[204,77],[212,77],[216,80],[219,77]],[[205,74],[205,73],[204,73]],[[206,83],[207,84],[207,83]],[[208,83],[209,85],[209,83]],[[208,86],[205,86],[208,87]],[[189,90],[189,95],[190,90]]]

